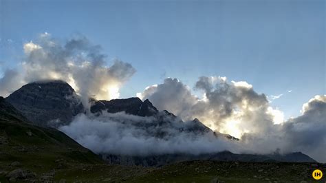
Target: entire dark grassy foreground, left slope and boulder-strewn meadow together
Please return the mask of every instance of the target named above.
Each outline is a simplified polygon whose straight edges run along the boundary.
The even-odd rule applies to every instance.
[[[162,167],[105,164],[61,131],[32,125],[0,97],[0,182],[307,182],[316,167],[326,168],[318,163],[237,162],[240,158],[234,156],[242,155],[219,154],[210,155],[215,160],[195,161],[165,155],[162,164],[176,163]]]

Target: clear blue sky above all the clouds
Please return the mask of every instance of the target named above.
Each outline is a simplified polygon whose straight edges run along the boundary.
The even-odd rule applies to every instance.
[[[226,76],[283,94],[272,106],[287,117],[326,93],[325,1],[0,0],[0,11],[0,73],[43,32],[83,34],[102,46],[107,65],[120,58],[137,69],[122,98],[165,77],[193,87],[199,76]]]

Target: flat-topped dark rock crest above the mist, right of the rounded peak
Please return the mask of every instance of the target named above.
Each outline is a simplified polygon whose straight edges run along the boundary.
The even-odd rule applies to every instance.
[[[97,113],[106,110],[109,113],[125,111],[126,114],[135,116],[153,116],[157,114],[157,109],[149,100],[142,102],[140,98],[126,98],[113,100],[98,100],[91,106],[91,112]]]

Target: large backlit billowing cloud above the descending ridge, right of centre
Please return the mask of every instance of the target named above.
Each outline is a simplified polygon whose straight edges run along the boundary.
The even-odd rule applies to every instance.
[[[179,80],[167,78],[138,96],[148,98],[157,109],[169,110],[184,120],[198,118],[208,127],[238,138],[241,133],[273,124],[266,96],[254,92],[252,85],[244,81],[228,83],[226,77],[202,76],[195,89],[204,92],[202,99]]]

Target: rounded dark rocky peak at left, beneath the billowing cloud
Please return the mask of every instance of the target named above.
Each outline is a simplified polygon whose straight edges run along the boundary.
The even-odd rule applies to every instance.
[[[29,83],[10,94],[6,101],[43,127],[67,124],[84,109],[74,89],[61,80]]]

